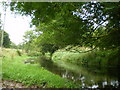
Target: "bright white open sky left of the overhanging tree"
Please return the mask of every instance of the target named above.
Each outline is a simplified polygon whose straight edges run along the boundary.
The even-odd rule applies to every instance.
[[[4,30],[9,34],[10,40],[16,45],[23,42],[23,35],[30,28],[30,17],[12,14],[9,7],[6,10],[6,17],[4,22],[4,11],[0,4],[1,19],[4,25]]]

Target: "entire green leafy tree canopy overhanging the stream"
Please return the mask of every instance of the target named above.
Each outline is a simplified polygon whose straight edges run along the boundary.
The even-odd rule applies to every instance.
[[[39,44],[120,46],[119,3],[11,2],[11,10],[30,15]],[[28,9],[29,8],[29,9]]]

